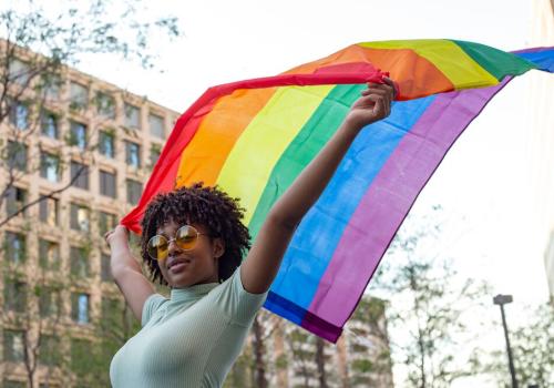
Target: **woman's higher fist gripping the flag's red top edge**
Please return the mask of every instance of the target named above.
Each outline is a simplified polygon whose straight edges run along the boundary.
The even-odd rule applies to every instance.
[[[386,83],[368,83],[368,89],[361,92],[361,98],[350,108],[345,122],[356,131],[390,114],[396,90],[392,80],[383,80]]]

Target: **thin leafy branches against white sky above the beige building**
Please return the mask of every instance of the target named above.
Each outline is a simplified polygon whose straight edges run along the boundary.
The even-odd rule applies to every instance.
[[[0,13],[0,35],[48,57],[52,67],[75,65],[83,53],[115,53],[152,69],[155,55],[148,37],[160,31],[171,39],[181,31],[174,17],[138,21],[137,4],[113,4],[106,0],[70,2],[69,8],[52,16],[35,1],[22,1],[17,9]],[[43,82],[55,83],[55,78],[43,76]]]

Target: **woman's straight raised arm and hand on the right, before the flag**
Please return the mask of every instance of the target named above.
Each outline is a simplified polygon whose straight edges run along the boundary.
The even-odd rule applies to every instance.
[[[319,198],[361,129],[390,114],[393,95],[390,80],[387,84],[369,84],[335,135],[274,204],[242,265],[246,290],[260,294],[269,289],[304,215]]]

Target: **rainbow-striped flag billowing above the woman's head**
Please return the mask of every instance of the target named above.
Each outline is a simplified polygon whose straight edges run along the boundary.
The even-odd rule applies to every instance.
[[[360,132],[298,227],[265,307],[335,343],[416,197],[514,75],[554,71],[554,49],[515,53],[453,40],[350,45],[276,76],[208,89],[176,122],[138,205],[203,181],[246,208],[254,238],[271,205],[338,129],[366,82],[390,72],[392,113]]]

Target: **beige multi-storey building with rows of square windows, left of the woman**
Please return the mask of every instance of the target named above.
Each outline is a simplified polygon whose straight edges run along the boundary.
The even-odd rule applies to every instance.
[[[7,71],[24,74],[30,60],[20,51]],[[121,302],[102,235],[136,204],[178,116],[74,69],[60,81],[39,112],[16,80],[8,94],[23,94],[0,126],[13,151],[0,170],[3,387],[27,387],[31,367],[35,387],[82,386],[72,355],[89,351],[105,305]]]

